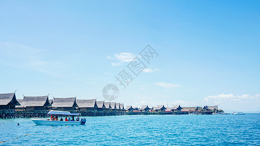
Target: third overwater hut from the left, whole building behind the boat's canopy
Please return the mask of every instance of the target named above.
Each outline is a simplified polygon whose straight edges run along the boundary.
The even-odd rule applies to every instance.
[[[76,97],[53,98],[52,109],[54,110],[77,110]]]

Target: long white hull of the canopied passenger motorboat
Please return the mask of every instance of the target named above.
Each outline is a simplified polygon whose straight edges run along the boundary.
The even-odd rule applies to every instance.
[[[36,125],[80,125],[79,121],[51,121],[32,118],[31,119]]]

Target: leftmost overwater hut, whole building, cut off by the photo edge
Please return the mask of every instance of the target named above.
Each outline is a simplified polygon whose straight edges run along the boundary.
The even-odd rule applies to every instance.
[[[0,94],[0,110],[13,110],[20,103],[16,100],[15,93]]]

